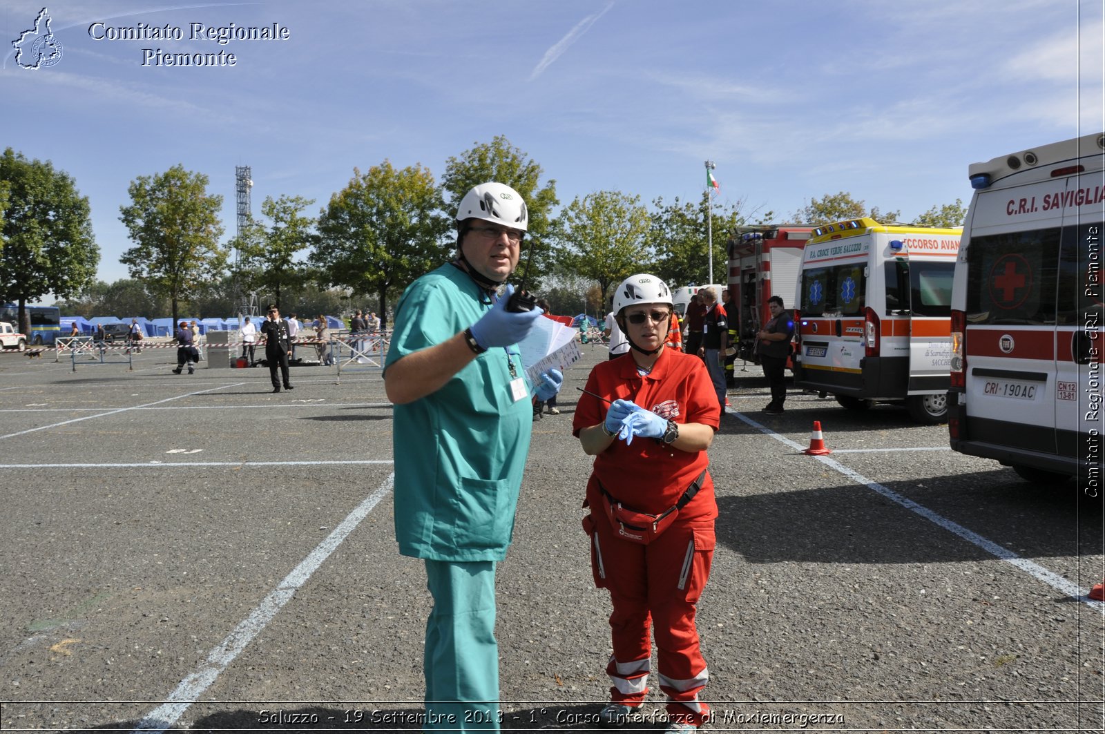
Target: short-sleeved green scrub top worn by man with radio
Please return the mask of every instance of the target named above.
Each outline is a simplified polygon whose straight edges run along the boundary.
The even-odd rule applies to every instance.
[[[423,275],[396,310],[383,369],[445,342],[491,310],[451,264]],[[512,347],[512,350],[516,352]],[[509,365],[523,380],[515,400]],[[533,406],[518,354],[492,347],[441,389],[394,407],[394,520],[399,552],[431,560],[502,560],[514,533]]]

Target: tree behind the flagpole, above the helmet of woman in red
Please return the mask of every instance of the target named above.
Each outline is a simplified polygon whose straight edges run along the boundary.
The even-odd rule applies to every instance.
[[[745,221],[740,214],[743,202],[708,207],[707,196],[708,192],[703,193],[697,205],[681,203],[677,197],[670,205],[662,198],[652,202],[655,211],[650,214],[649,240],[656,253],[654,273],[670,287],[709,283],[707,231],[712,231],[714,239],[714,276],[722,283],[728,281],[728,239],[733,229]],[[706,227],[707,216],[712,216],[711,229]]]

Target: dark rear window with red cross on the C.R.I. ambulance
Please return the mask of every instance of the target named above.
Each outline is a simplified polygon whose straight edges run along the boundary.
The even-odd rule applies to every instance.
[[[1055,323],[1060,229],[971,238],[967,322]]]

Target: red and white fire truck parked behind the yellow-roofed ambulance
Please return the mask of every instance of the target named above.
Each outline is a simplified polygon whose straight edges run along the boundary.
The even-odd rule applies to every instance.
[[[729,300],[737,305],[729,316],[729,336],[736,358],[758,363],[756,332],[771,314],[767,300],[774,295],[791,308],[798,275],[802,268],[802,248],[812,227],[738,227],[729,238]]]

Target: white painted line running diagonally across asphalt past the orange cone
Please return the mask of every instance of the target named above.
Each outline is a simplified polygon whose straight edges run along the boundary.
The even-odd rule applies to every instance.
[[[753,420],[751,418],[748,418],[747,416],[745,416],[741,412],[733,410],[732,408],[726,409],[726,412],[729,413],[729,415],[732,415],[732,416],[736,416],[737,418],[739,418],[744,422],[748,423],[749,426],[751,426],[756,430],[760,431],[761,433],[765,433],[765,434],[771,437],[776,441],[779,441],[780,443],[783,443],[783,444],[786,444],[786,445],[794,449],[796,451],[802,451],[802,450],[806,449],[806,447],[800,445],[798,443],[794,443],[793,441],[791,441],[787,437],[780,436],[779,433],[776,433],[770,428],[767,428],[766,426],[761,426],[760,423],[757,423],[755,420]],[[1085,605],[1087,605],[1090,607],[1093,607],[1094,609],[1096,609],[1097,611],[1099,611],[1102,614],[1105,614],[1105,602],[1095,601],[1095,600],[1088,598],[1086,596],[1088,594],[1088,591],[1086,589],[1083,589],[1080,586],[1077,586],[1076,584],[1073,584],[1073,583],[1069,581],[1067,579],[1063,578],[1059,574],[1050,572],[1046,568],[1044,568],[1043,566],[1041,566],[1039,564],[1035,564],[1035,563],[1032,563],[1031,560],[1029,560],[1027,558],[1020,557],[1015,553],[1013,553],[1013,552],[1011,552],[1011,550],[1009,550],[1007,548],[1003,548],[1002,546],[998,545],[993,541],[990,541],[990,539],[987,539],[987,538],[982,537],[981,535],[979,535],[975,531],[967,529],[962,525],[960,525],[958,523],[955,523],[955,522],[948,520],[947,517],[945,517],[945,516],[943,516],[943,515],[940,515],[938,513],[933,512],[932,510],[929,510],[928,507],[925,507],[924,505],[917,504],[913,500],[898,494],[894,490],[892,490],[892,489],[890,489],[887,486],[884,486],[884,485],[880,484],[878,482],[875,482],[875,481],[872,481],[872,480],[867,479],[863,474],[860,474],[859,472],[856,472],[856,471],[854,471],[852,469],[849,469],[848,466],[841,464],[838,461],[834,461],[834,460],[830,459],[829,457],[810,457],[810,458],[811,459],[817,459],[818,461],[820,461],[821,463],[823,463],[825,466],[829,466],[830,469],[833,469],[834,471],[843,474],[844,476],[849,478],[850,480],[852,480],[853,482],[855,482],[857,484],[863,484],[869,490],[871,490],[873,492],[877,492],[878,494],[883,495],[887,500],[896,502],[897,504],[902,505],[906,510],[920,515],[925,520],[928,520],[929,522],[936,523],[937,525],[939,525],[944,529],[949,531],[951,533],[955,533],[956,535],[958,535],[962,539],[967,541],[968,543],[971,543],[971,544],[978,546],[979,548],[982,548],[987,553],[996,556],[1000,560],[1004,560],[1006,563],[1008,563],[1008,564],[1010,564],[1010,565],[1012,565],[1012,566],[1014,566],[1014,567],[1017,567],[1017,568],[1019,568],[1021,570],[1023,570],[1024,573],[1029,574],[1030,576],[1032,576],[1036,580],[1042,581],[1042,583],[1046,584],[1048,586],[1051,586],[1054,589],[1057,589],[1060,593],[1065,594],[1066,596],[1069,596],[1069,597],[1071,597],[1073,599],[1077,599],[1078,601],[1082,601],[1083,604],[1085,604]]]

